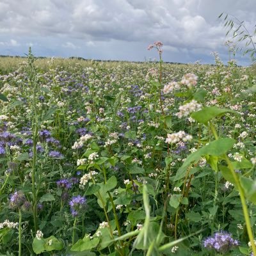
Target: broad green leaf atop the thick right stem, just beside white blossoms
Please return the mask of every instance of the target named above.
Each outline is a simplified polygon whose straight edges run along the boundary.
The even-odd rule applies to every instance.
[[[221,116],[225,113],[237,114],[237,112],[232,109],[205,107],[199,111],[192,113],[191,117],[194,118],[200,124],[207,124],[210,120],[212,120],[212,118],[215,118],[216,116]]]

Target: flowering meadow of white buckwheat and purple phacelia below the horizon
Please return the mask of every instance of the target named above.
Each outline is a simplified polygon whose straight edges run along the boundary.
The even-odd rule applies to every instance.
[[[255,67],[148,50],[1,59],[0,255],[256,255]]]

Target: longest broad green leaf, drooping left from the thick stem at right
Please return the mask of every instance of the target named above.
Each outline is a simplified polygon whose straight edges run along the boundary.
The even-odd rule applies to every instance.
[[[177,171],[174,181],[182,179],[186,175],[186,170],[188,166],[192,163],[197,163],[202,156],[211,155],[211,156],[221,156],[225,154],[230,148],[233,147],[236,140],[232,138],[221,138],[219,140],[214,140],[210,142],[208,145],[205,145],[202,148],[196,150],[190,154],[182,166]]]

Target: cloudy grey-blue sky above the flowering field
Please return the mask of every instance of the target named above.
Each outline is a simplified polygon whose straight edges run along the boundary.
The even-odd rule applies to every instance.
[[[0,0],[0,55],[145,61],[163,42],[163,61],[228,61],[222,12],[253,33],[255,0]],[[237,54],[239,65],[250,58]]]

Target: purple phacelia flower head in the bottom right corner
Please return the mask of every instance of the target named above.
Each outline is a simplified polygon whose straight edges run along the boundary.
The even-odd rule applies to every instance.
[[[218,253],[227,253],[232,247],[238,246],[239,242],[227,232],[217,232],[214,236],[204,240],[204,247],[215,250]]]

